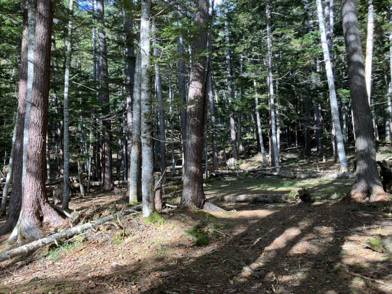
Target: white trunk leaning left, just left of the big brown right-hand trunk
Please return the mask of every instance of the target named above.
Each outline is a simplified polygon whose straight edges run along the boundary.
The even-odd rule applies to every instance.
[[[318,18],[319,18],[321,46],[324,55],[325,71],[327,72],[327,79],[328,79],[329,100],[331,104],[332,119],[333,119],[333,124],[336,133],[338,156],[341,165],[341,171],[346,172],[347,160],[344,151],[343,135],[342,135],[342,128],[340,125],[339,108],[338,108],[338,100],[336,98],[334,76],[332,72],[332,65],[329,57],[329,49],[328,49],[326,35],[325,35],[324,16],[322,13],[321,0],[316,0],[316,3],[317,3]]]

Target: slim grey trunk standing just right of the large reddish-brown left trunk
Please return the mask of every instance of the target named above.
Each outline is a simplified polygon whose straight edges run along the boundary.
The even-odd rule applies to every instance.
[[[65,62],[64,74],[64,173],[63,173],[63,203],[61,207],[68,209],[70,202],[70,115],[68,111],[69,85],[70,85],[70,69],[71,69],[71,53],[72,53],[72,19],[73,19],[73,0],[70,0],[68,21],[68,40],[67,40],[67,57]]]

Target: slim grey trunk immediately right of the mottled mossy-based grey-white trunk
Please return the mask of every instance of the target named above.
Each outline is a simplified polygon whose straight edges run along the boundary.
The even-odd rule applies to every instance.
[[[156,45],[156,34],[155,34],[155,23],[152,23],[152,48],[153,55],[155,57],[155,83],[156,83],[156,96],[158,98],[158,111],[159,111],[159,148],[161,152],[161,173],[166,170],[166,136],[165,136],[165,112],[163,108],[163,98],[162,98],[162,82],[161,73],[158,66],[158,48]]]

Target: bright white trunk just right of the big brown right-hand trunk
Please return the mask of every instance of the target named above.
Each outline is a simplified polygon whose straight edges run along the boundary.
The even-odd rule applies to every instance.
[[[372,61],[373,61],[373,34],[374,34],[374,7],[373,0],[368,0],[368,32],[366,36],[366,54],[365,54],[365,81],[366,91],[368,94],[368,102],[372,115],[373,133],[374,138],[378,140],[378,130],[376,123],[376,114],[374,105],[372,105],[371,99],[371,72],[372,72]]]

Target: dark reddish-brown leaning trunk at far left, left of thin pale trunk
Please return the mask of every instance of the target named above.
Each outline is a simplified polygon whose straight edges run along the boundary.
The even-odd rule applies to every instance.
[[[17,223],[22,206],[22,170],[23,170],[23,131],[25,124],[26,88],[27,88],[27,1],[23,2],[23,30],[21,44],[21,64],[19,69],[18,115],[16,120],[16,140],[14,167],[12,172],[12,191],[8,205],[8,215],[0,227],[0,235],[10,231]]]

